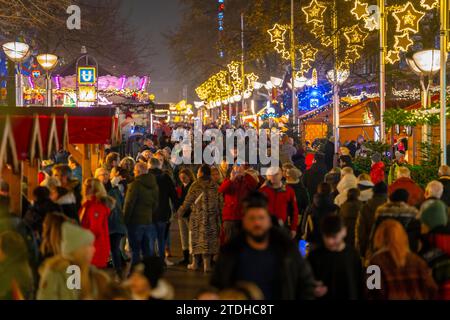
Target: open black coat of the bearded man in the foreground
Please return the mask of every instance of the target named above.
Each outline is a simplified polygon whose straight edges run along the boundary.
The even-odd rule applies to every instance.
[[[245,235],[241,234],[222,248],[211,278],[212,286],[220,290],[233,287],[237,277],[239,255],[246,245],[245,241]],[[300,255],[295,243],[276,228],[270,231],[270,242],[279,255],[274,299],[314,299],[315,280],[311,267]]]

